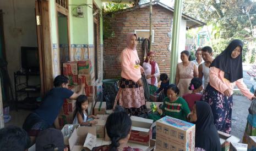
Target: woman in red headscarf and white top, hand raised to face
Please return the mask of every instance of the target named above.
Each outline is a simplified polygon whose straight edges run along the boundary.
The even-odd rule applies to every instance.
[[[160,75],[159,67],[154,61],[155,54],[150,51],[146,55],[146,59],[143,62],[143,68],[145,71],[146,82],[149,84],[150,94],[154,94],[158,88],[157,77]]]

